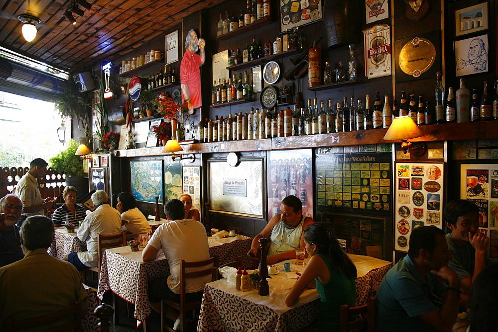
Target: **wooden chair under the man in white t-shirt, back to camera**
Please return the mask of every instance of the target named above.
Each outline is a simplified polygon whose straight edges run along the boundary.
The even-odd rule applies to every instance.
[[[212,265],[209,266],[208,265]],[[201,267],[201,266],[206,266],[205,269],[201,271],[195,271],[195,272],[186,272],[187,268],[192,268],[192,267]],[[187,279],[191,278],[198,278],[198,277],[203,277],[206,275],[210,275],[212,277],[212,281],[215,281],[218,279],[218,255],[214,255],[213,257],[206,259],[206,260],[201,260],[197,262],[186,262],[185,260],[182,259],[180,263],[180,302],[175,302],[171,301],[168,299],[162,299],[161,300],[161,331],[163,330],[163,327],[166,328],[168,331],[173,331],[173,329],[170,329],[168,326],[164,325],[164,316],[165,316],[165,309],[166,305],[178,310],[180,312],[180,327],[181,331],[184,332],[186,329],[186,324],[185,324],[185,314],[188,311],[192,311],[195,309],[200,309],[201,308],[201,303],[202,300],[195,300],[192,302],[187,302],[186,301],[186,296],[187,296]]]

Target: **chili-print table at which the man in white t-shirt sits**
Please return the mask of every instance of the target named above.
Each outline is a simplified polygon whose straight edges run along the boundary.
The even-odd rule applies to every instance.
[[[208,237],[209,253],[218,254],[218,262],[223,265],[235,261],[238,256],[247,257],[252,238],[237,235],[225,239]],[[104,251],[97,296],[102,300],[106,291],[113,291],[125,301],[134,304],[134,318],[137,327],[150,315],[147,293],[149,279],[169,275],[169,265],[161,253],[155,260],[144,262],[142,248],[131,251],[130,247],[106,249]]]

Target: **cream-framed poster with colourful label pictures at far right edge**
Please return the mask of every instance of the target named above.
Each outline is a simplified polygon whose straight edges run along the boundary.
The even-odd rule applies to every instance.
[[[460,198],[479,206],[479,232],[490,238],[490,257],[498,258],[498,165],[460,167]]]

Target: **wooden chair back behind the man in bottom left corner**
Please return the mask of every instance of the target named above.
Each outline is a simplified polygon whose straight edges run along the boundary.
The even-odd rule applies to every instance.
[[[43,326],[65,319],[70,315],[73,315],[74,318],[73,320],[64,323],[61,326],[54,328],[52,330],[43,330]],[[20,321],[14,321],[12,320],[12,318],[7,318],[5,320],[5,331],[20,331],[24,329],[36,328],[39,329],[40,331],[43,330],[47,332],[64,332],[71,330],[79,332],[83,331],[81,320],[82,320],[82,314],[81,314],[80,301],[76,301],[74,305],[72,305],[67,309],[43,317],[31,318]]]

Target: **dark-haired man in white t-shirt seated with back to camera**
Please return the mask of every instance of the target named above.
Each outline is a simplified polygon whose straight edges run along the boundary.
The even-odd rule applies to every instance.
[[[162,224],[152,235],[147,246],[143,249],[144,262],[154,260],[159,250],[164,250],[168,260],[170,275],[148,282],[149,301],[151,307],[158,310],[162,298],[180,301],[180,262],[200,261],[210,258],[208,237],[204,225],[193,219],[185,218],[185,208],[178,199],[170,199],[164,204],[164,213],[169,222]],[[205,269],[205,266],[197,270]],[[189,269],[195,271],[196,268]],[[211,282],[211,275],[188,279],[187,301],[201,299],[204,285]],[[159,311],[159,310],[158,310]],[[175,330],[179,325],[178,313],[170,312],[166,315],[175,322]]]

